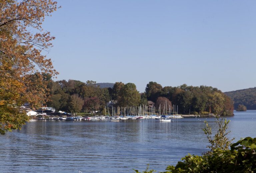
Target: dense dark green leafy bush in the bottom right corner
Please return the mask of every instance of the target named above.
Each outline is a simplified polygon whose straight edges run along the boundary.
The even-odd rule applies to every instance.
[[[164,173],[185,172],[255,172],[256,138],[247,137],[231,145],[231,149],[215,149],[203,156],[187,155],[176,166],[168,166]]]

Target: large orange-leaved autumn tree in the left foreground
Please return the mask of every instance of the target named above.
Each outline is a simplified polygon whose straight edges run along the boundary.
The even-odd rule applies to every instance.
[[[43,32],[42,22],[57,9],[52,0],[0,1],[0,133],[20,128],[28,120],[19,107],[41,105],[47,87],[43,74],[54,76],[51,59],[44,50],[54,37]],[[31,79],[32,74],[37,78]],[[35,80],[36,79],[36,80]]]

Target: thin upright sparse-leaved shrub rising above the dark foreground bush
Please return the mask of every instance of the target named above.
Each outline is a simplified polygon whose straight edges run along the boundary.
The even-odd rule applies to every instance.
[[[211,144],[207,146],[207,148],[210,148],[211,151],[214,151],[216,149],[228,150],[231,142],[234,140],[234,138],[229,140],[227,137],[227,135],[230,133],[230,131],[226,132],[230,120],[227,121],[227,119],[216,117],[215,122],[216,124],[218,124],[219,128],[214,137],[212,137],[212,129],[209,126],[208,122],[204,121],[206,127],[203,130],[204,133],[207,135],[209,143]]]

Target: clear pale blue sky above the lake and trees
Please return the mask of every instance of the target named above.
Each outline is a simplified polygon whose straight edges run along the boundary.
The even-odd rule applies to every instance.
[[[256,1],[59,0],[43,28],[56,80],[256,86]]]

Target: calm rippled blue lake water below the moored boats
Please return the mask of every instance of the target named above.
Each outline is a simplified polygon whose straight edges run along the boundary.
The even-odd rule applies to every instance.
[[[256,111],[234,112],[230,137],[256,137]],[[206,118],[121,122],[44,121],[0,136],[0,172],[116,173],[157,171],[206,151]],[[216,130],[214,118],[207,121]]]

